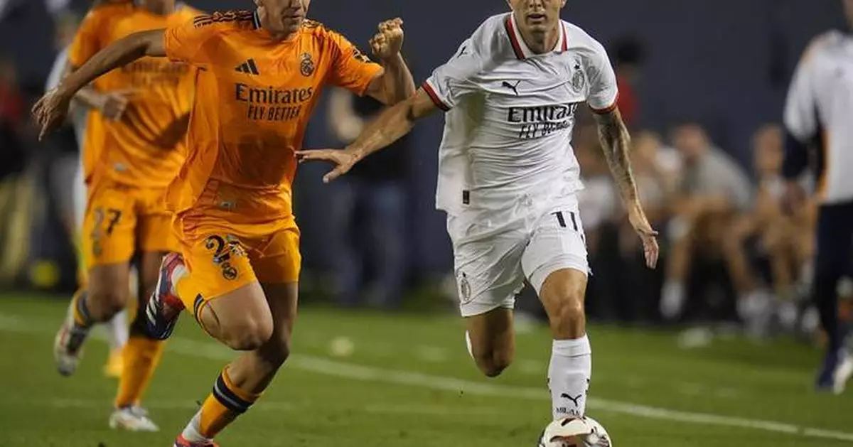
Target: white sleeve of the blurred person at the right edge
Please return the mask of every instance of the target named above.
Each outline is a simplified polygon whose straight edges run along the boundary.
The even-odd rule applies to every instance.
[[[818,131],[814,62],[808,55],[799,62],[785,102],[786,131],[799,142],[808,142]]]

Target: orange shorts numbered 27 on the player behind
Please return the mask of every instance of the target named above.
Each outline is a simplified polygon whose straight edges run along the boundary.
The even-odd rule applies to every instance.
[[[81,253],[86,270],[120,264],[139,252],[173,252],[171,213],[165,189],[135,188],[109,180],[89,189],[83,220]]]

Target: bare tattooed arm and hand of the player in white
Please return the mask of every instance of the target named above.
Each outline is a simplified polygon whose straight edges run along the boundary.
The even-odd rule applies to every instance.
[[[631,171],[630,157],[630,135],[622,121],[622,115],[618,108],[610,112],[595,113],[598,123],[598,135],[601,139],[601,148],[610,166],[613,179],[619,188],[622,202],[628,212],[630,224],[634,227],[643,244],[643,252],[646,256],[646,265],[654,268],[658,264],[658,241],[655,236],[658,232],[652,229],[648,223],[646,213],[640,204],[640,195],[634,180],[634,172]]]

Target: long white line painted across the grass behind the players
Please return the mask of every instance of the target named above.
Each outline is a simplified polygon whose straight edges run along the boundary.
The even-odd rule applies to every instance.
[[[23,317],[3,314],[0,314],[0,330],[19,333],[44,333],[44,328],[38,328],[34,324],[27,324],[26,319]],[[223,345],[218,345],[213,342],[188,340],[180,337],[174,337],[170,340],[168,350],[184,355],[212,360],[229,361],[235,357],[234,352],[230,351]],[[391,383],[395,385],[417,386],[449,392],[467,392],[479,396],[519,398],[543,402],[548,401],[550,398],[544,387],[497,386],[489,383],[441,377],[412,371],[362,366],[355,363],[330,360],[324,357],[294,354],[288,360],[287,366],[289,368],[302,369],[305,371],[331,375],[349,380],[365,380],[380,383]],[[633,415],[662,421],[687,422],[719,427],[751,428],[765,432],[799,435],[805,438],[823,438],[853,442],[853,432],[840,432],[823,430],[820,428],[802,427],[786,422],[762,421],[734,416],[693,413],[600,398],[589,398],[587,406],[589,409],[594,411]]]

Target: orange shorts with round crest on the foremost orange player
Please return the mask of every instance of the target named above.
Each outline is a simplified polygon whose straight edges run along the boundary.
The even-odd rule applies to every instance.
[[[189,270],[189,287],[205,301],[251,282],[299,282],[302,255],[293,219],[270,231],[229,224],[222,218],[179,216],[174,229]],[[185,304],[195,296],[183,296]],[[188,307],[189,308],[189,307]]]

